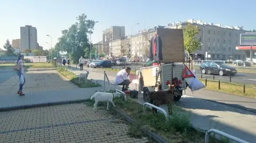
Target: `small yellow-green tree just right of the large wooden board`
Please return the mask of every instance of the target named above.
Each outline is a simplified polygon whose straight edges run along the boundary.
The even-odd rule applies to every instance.
[[[199,32],[200,28],[190,23],[188,23],[186,28],[183,28],[184,46],[188,55],[197,51],[201,46],[198,40]]]

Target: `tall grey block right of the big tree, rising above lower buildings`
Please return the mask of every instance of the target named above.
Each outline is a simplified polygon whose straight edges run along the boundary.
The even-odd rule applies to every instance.
[[[106,30],[103,30],[103,53],[111,55],[111,40],[125,38],[125,27],[124,26],[112,26]]]

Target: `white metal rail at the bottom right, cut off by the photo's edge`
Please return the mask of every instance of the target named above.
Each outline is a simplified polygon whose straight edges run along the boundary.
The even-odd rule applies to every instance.
[[[232,135],[230,135],[230,134],[228,134],[228,133],[219,131],[219,130],[217,130],[217,129],[210,129],[210,130],[206,131],[206,133],[205,133],[205,140],[204,140],[205,143],[209,143],[209,135],[210,135],[212,132],[218,133],[218,134],[220,134],[221,136],[224,136],[224,137],[226,137],[226,138],[228,138],[228,139],[231,139],[231,140],[236,141],[236,142],[239,142],[239,143],[250,143],[250,142],[248,142],[248,141],[244,141],[244,140],[242,140],[242,139],[239,139],[239,138],[237,138],[237,137],[234,137],[234,136],[232,136]]]

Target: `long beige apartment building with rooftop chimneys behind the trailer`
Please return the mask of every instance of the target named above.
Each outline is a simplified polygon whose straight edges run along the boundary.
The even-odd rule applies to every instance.
[[[212,22],[203,22],[201,20],[189,19],[186,22],[169,23],[166,28],[181,29],[187,24],[193,24],[200,28],[199,41],[201,49],[193,53],[194,59],[205,60],[245,60],[246,53],[236,50],[239,45],[240,33],[246,32],[243,27],[222,26]]]

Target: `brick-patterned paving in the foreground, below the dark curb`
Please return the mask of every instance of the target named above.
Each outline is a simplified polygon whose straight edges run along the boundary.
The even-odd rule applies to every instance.
[[[0,112],[1,142],[148,142],[127,135],[129,124],[105,109],[67,104]]]

